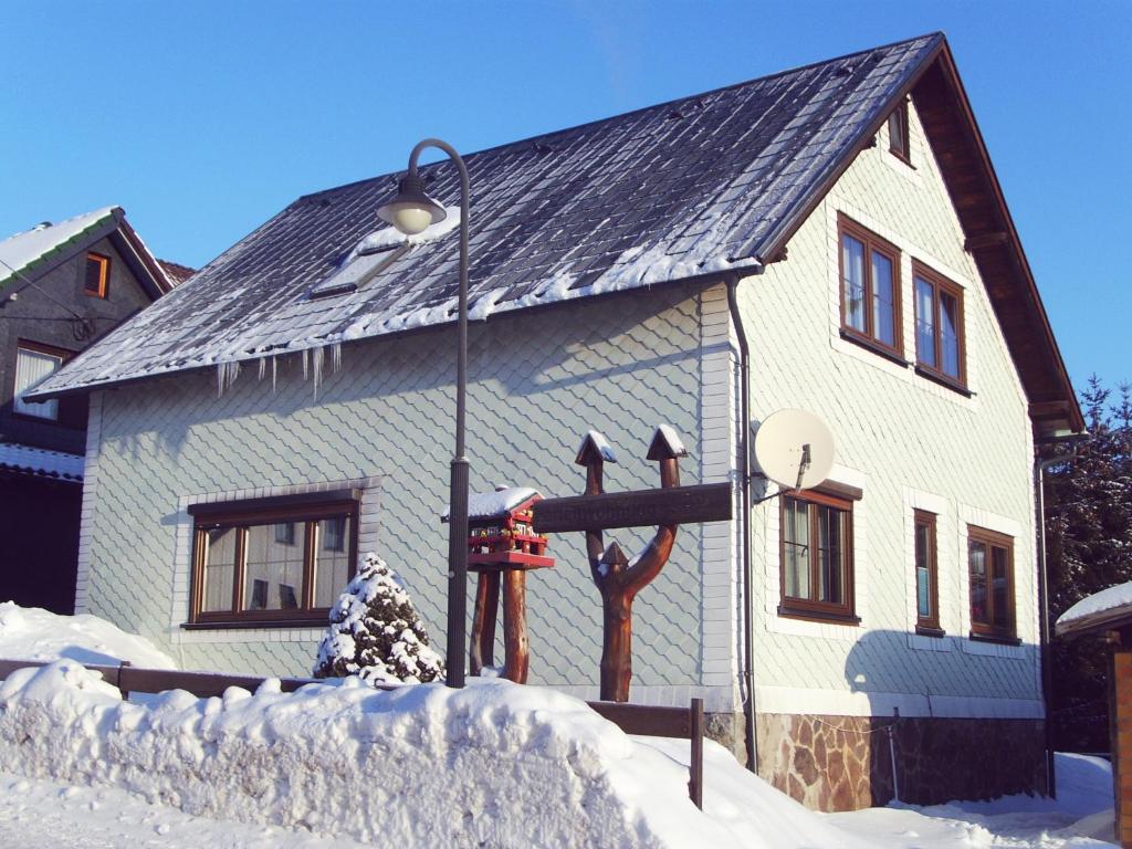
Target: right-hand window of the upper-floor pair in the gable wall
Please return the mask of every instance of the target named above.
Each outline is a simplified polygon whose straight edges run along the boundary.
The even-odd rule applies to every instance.
[[[966,388],[963,290],[923,263],[912,261],[916,301],[916,368]]]

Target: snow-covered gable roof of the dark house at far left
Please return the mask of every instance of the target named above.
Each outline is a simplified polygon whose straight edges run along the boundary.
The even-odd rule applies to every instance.
[[[44,221],[31,230],[0,239],[0,292],[10,293],[42,277],[75,254],[109,238],[134,272],[146,294],[157,299],[173,283],[120,206],[105,206],[59,222]]]

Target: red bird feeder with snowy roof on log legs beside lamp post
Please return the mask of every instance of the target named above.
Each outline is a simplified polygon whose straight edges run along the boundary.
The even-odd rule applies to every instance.
[[[469,646],[472,675],[494,663],[499,584],[504,595],[504,677],[526,683],[526,572],[555,565],[546,537],[534,532],[532,507],[542,495],[531,487],[497,487],[468,499],[468,568],[477,573],[475,614]],[[448,521],[445,511],[443,521]]]

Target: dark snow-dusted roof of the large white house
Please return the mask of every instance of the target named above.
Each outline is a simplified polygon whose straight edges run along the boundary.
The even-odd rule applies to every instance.
[[[944,37],[936,33],[466,156],[472,317],[758,271],[781,258],[789,237],[889,112],[941,63],[958,89],[936,112],[967,109],[969,118]],[[974,140],[985,156],[970,121],[974,136],[959,143]],[[976,178],[990,189],[979,203],[1001,204],[988,160],[985,165]],[[458,203],[451,163],[428,165],[422,174],[430,194],[446,205]],[[380,229],[376,211],[396,190],[397,177],[299,198],[76,357],[36,395],[454,320],[454,233],[358,260],[351,269],[377,266],[363,285],[331,281],[359,242]],[[961,188],[969,194],[964,180]],[[949,188],[954,196],[957,189]],[[961,201],[957,209],[967,230]],[[1007,247],[1020,255],[1004,204],[995,215],[997,230],[1014,237]],[[1001,242],[992,240],[995,246]],[[1048,328],[1024,256],[1020,267],[1009,297],[1032,300],[1029,311],[1036,309]],[[325,297],[317,297],[328,281]],[[1075,410],[1052,333],[1039,344],[1052,346],[1052,355],[1041,358],[1034,379],[1023,375],[1031,402],[1035,389],[1052,387],[1052,402]]]

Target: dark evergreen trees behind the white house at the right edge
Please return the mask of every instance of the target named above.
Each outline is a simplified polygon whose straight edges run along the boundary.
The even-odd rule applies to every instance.
[[[1116,403],[1092,377],[1081,393],[1090,438],[1046,474],[1049,617],[1132,581],[1132,396]],[[1058,748],[1108,748],[1108,653],[1099,637],[1052,642],[1052,721]]]

